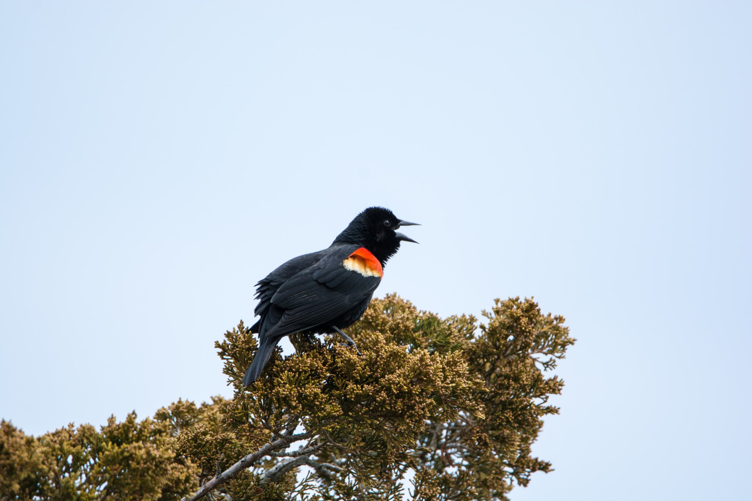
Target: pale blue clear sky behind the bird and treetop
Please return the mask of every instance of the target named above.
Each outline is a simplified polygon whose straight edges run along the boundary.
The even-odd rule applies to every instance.
[[[749,2],[0,3],[0,416],[229,395],[253,284],[379,204],[441,315],[578,343],[529,499],[750,499]]]

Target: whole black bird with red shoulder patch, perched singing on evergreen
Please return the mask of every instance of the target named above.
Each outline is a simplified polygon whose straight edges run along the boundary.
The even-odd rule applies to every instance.
[[[261,318],[250,331],[259,334],[259,350],[243,384],[259,377],[274,346],[289,334],[337,332],[355,346],[341,329],[365,312],[399,243],[415,242],[396,231],[410,225],[417,223],[402,221],[384,207],[368,207],[328,249],[290,259],[257,283],[260,302],[254,312]]]

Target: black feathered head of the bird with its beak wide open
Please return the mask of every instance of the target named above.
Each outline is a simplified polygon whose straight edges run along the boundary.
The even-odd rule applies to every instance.
[[[384,266],[389,258],[395,255],[400,242],[415,242],[397,230],[401,226],[417,224],[399,219],[391,210],[384,207],[368,207],[355,216],[347,228],[338,234],[332,245],[347,243],[365,247],[381,262],[381,266]]]

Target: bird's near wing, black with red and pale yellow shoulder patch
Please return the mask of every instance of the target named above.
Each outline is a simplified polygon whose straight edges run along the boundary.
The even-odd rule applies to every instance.
[[[369,261],[371,253],[361,249],[327,249],[325,258],[280,285],[270,303],[284,312],[266,335],[286,336],[326,324],[373,294],[381,283],[381,264]]]

